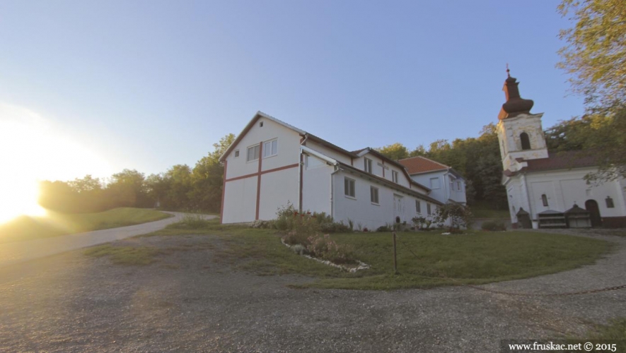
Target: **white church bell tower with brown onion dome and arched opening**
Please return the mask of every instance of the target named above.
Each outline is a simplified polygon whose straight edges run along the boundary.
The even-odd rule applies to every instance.
[[[502,167],[505,171],[516,172],[523,160],[547,158],[547,146],[541,126],[543,113],[531,113],[534,102],[520,97],[519,83],[511,77],[509,68],[506,74],[502,89],[506,102],[498,114],[497,133]]]

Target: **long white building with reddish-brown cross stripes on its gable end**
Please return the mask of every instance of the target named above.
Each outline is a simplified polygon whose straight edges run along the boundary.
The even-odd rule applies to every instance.
[[[371,148],[350,152],[257,112],[220,158],[221,222],[272,220],[288,202],[368,229],[434,215],[441,202],[402,164]]]

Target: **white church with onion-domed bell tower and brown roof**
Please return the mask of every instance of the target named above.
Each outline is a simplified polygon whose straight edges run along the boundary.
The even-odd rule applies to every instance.
[[[511,222],[533,228],[580,227],[565,216],[582,208],[588,211],[589,226],[625,227],[626,181],[587,183],[584,176],[598,170],[593,157],[548,151],[543,113],[531,113],[533,101],[520,97],[515,78],[506,78],[504,92],[497,131]]]

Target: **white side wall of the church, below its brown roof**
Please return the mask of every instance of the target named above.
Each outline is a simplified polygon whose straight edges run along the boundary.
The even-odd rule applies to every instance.
[[[551,172],[533,172],[511,177],[506,182],[509,198],[511,222],[517,222],[516,213],[520,207],[531,213],[536,220],[538,213],[545,210],[564,212],[576,205],[585,208],[585,202],[595,200],[601,217],[626,216],[626,201],[621,183],[610,181],[603,184],[587,184],[583,177],[597,169],[579,168]],[[543,205],[542,195],[547,197],[548,205]],[[608,208],[605,199],[613,199],[614,208]]]

